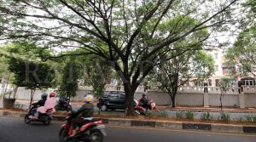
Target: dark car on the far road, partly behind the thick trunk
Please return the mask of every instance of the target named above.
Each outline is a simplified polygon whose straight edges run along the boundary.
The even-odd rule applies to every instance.
[[[108,111],[108,109],[125,109],[125,93],[124,92],[110,92],[105,94],[104,97],[99,99],[97,107],[102,111]]]

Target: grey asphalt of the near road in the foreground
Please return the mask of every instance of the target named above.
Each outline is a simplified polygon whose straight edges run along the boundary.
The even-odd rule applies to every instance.
[[[0,142],[58,142],[61,122],[49,126],[0,117]],[[256,135],[205,133],[150,128],[106,128],[104,142],[256,142]]]

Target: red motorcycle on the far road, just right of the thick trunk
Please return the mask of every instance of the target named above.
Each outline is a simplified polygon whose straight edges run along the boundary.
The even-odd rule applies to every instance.
[[[153,102],[153,100],[151,99],[150,101],[148,101],[148,108],[144,108],[141,103],[140,103],[140,100],[137,101],[135,107],[134,107],[134,111],[136,112],[137,115],[146,115],[146,112],[148,110],[152,110],[152,111],[159,111],[157,108],[156,108],[156,105],[155,103]]]

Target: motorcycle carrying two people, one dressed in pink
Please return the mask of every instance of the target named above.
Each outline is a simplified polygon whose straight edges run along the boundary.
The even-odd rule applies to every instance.
[[[39,116],[38,119],[36,118],[29,118],[29,116],[32,115],[32,109],[36,108],[38,106],[36,105],[32,105],[32,107],[28,110],[28,113],[26,114],[26,116],[24,117],[25,122],[28,124],[30,122],[43,122],[44,125],[49,125],[51,120],[52,120],[52,109],[49,109],[46,111],[46,113],[40,113],[39,112]]]

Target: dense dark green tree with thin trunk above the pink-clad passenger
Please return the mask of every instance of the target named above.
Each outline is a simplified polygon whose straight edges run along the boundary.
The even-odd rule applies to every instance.
[[[13,83],[17,87],[31,89],[30,105],[37,88],[49,88],[54,79],[54,70],[45,63],[35,63],[16,58],[9,59],[9,71],[15,74]]]

